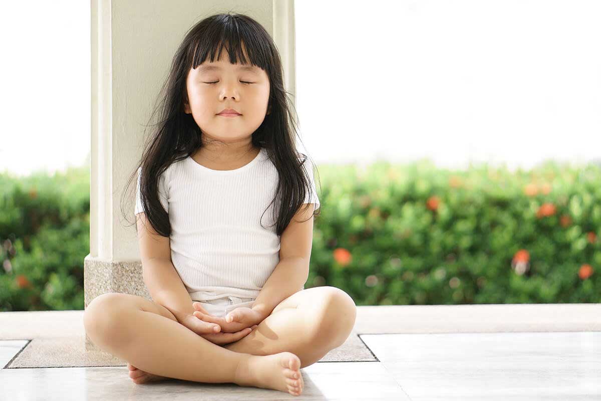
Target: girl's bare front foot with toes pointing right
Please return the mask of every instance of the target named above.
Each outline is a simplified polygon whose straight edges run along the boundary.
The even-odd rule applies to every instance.
[[[235,383],[247,387],[271,388],[293,396],[301,395],[305,385],[301,374],[301,360],[291,352],[251,355],[240,362]]]

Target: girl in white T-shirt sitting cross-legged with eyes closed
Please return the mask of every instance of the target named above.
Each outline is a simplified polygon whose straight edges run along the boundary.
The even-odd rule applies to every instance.
[[[88,337],[128,361],[136,384],[301,394],[299,370],[344,343],[356,307],[335,287],[304,289],[319,198],[295,148],[276,46],[248,16],[207,17],[178,47],[163,89],[135,206],[153,300],[98,296],[84,312]]]

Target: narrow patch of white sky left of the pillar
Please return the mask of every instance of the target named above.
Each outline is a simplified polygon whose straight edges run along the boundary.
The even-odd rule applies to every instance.
[[[1,6],[0,171],[81,165],[90,152],[90,2]]]

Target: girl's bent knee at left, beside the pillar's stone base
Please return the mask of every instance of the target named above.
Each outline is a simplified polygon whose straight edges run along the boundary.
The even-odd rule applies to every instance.
[[[123,295],[109,292],[97,296],[84,311],[84,328],[92,340],[112,338],[118,326],[118,313],[123,310]],[[119,306],[121,304],[121,307]]]

